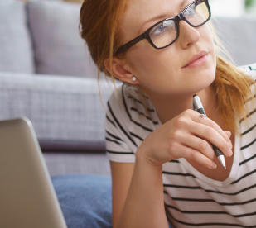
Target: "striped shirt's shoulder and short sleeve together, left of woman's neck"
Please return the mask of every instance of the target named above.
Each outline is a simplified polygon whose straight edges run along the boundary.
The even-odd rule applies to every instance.
[[[150,121],[141,115],[139,106],[142,102],[136,90],[124,84],[119,85],[109,98],[104,127],[110,160],[134,162],[138,147],[152,132]]]

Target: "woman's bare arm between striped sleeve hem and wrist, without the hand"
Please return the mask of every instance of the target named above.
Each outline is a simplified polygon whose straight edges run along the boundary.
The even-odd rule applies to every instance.
[[[111,162],[111,172],[113,228],[168,227],[163,201],[162,165],[148,165],[137,156],[135,164]]]

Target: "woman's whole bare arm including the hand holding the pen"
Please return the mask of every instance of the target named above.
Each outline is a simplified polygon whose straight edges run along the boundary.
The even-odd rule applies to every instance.
[[[214,169],[215,154],[207,141],[220,150],[229,149],[229,137],[206,118],[198,124],[199,114],[181,113],[153,131],[136,153],[134,165],[112,163],[113,224],[116,227],[168,227],[165,214],[162,164],[171,159],[193,159]]]

